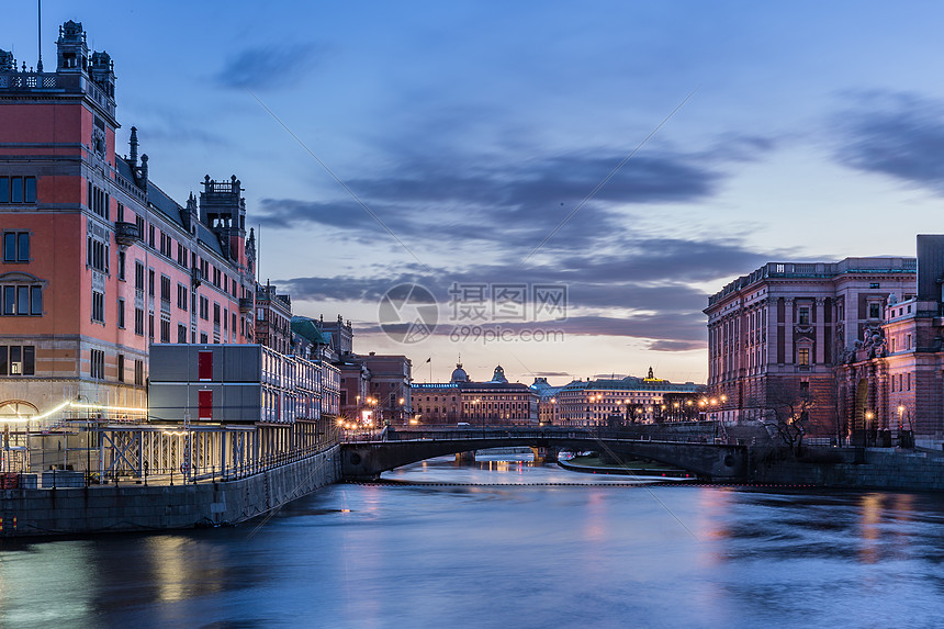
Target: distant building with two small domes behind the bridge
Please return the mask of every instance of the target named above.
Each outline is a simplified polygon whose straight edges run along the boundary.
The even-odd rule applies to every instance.
[[[487,382],[473,382],[459,363],[450,382],[413,387],[416,420],[422,424],[538,424],[538,394],[526,384],[508,382],[501,364]]]

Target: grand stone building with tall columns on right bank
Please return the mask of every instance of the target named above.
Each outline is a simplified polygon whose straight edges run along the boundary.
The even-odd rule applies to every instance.
[[[914,258],[771,262],[711,295],[704,311],[709,416],[760,419],[809,396],[808,430],[845,435],[838,369],[880,334],[890,302],[914,299],[917,269]]]

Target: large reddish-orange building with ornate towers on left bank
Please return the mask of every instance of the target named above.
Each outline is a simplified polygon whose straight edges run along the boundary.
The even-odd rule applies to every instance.
[[[131,130],[115,75],[65,23],[53,72],[0,50],[0,415],[81,400],[146,406],[154,344],[251,342],[255,250],[239,181],[181,205]]]

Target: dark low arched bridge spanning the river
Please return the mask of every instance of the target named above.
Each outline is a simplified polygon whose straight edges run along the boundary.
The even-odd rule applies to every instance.
[[[398,430],[385,429],[367,441],[341,443],[341,472],[346,480],[378,480],[381,472],[434,457],[488,448],[527,446],[571,451],[605,451],[620,458],[639,458],[681,468],[712,481],[749,476],[749,448],[704,442],[705,437],[652,436],[617,430],[570,427],[492,427]]]

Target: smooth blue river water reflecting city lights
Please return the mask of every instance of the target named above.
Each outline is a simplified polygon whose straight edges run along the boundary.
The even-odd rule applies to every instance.
[[[2,540],[0,626],[944,626],[942,496],[516,458],[437,459],[235,528]]]

